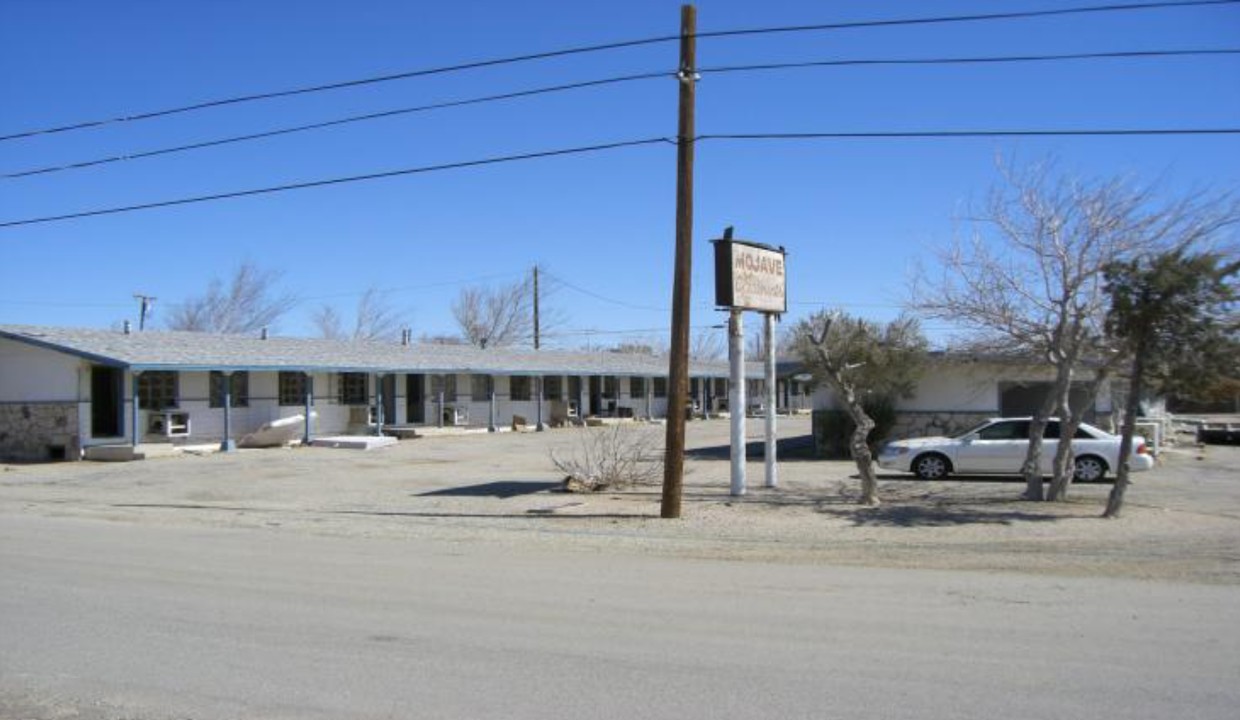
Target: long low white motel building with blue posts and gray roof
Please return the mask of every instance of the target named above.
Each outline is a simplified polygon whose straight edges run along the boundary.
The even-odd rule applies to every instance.
[[[760,364],[745,374],[748,410],[760,411]],[[691,363],[689,378],[694,416],[727,410],[727,362]],[[777,411],[806,408],[805,392],[779,380]],[[233,447],[272,423],[295,425],[305,442],[667,410],[667,361],[652,356],[0,325],[0,460]]]

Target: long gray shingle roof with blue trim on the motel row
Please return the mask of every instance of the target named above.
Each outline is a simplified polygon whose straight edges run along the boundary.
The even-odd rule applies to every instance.
[[[133,369],[335,371],[485,374],[610,374],[661,377],[667,358],[614,352],[480,349],[469,346],[348,342],[205,332],[0,325],[0,337]],[[694,362],[694,377],[728,377],[725,362]],[[756,364],[746,375],[760,378]]]

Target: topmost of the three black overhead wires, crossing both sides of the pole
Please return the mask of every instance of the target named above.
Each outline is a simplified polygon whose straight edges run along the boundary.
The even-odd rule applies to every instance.
[[[813,25],[789,25],[789,26],[776,26],[776,27],[751,27],[751,29],[737,29],[737,30],[718,30],[711,32],[698,32],[696,37],[709,38],[709,37],[742,37],[753,35],[771,35],[771,33],[789,33],[789,32],[821,32],[831,30],[859,30],[859,29],[877,29],[877,27],[898,27],[909,25],[934,25],[934,24],[950,24],[950,22],[983,22],[983,21],[999,21],[999,20],[1028,20],[1033,17],[1052,17],[1052,16],[1068,16],[1068,15],[1084,15],[1084,14],[1100,14],[1100,12],[1127,12],[1127,11],[1141,11],[1141,10],[1158,10],[1158,9],[1178,9],[1178,7],[1194,7],[1194,6],[1211,6],[1211,5],[1234,5],[1240,2],[1240,0],[1176,0],[1166,2],[1135,2],[1135,4],[1114,4],[1114,5],[1092,5],[1084,7],[1063,7],[1058,10],[1027,10],[1027,11],[1012,11],[1012,12],[985,12],[973,15],[944,15],[932,17],[905,17],[905,19],[893,19],[893,20],[863,20],[863,21],[851,21],[851,22],[827,22],[827,24],[813,24]],[[119,115],[114,118],[107,118],[100,120],[87,120],[81,123],[72,123],[68,125],[60,125],[52,128],[42,128],[37,130],[26,130],[20,133],[11,133],[7,135],[0,135],[0,141],[17,140],[24,138],[33,138],[37,135],[51,135],[57,133],[68,133],[73,130],[83,130],[87,128],[99,128],[103,125],[112,125],[118,123],[131,123],[136,120],[149,120],[154,118],[164,118],[169,115],[176,115],[182,113],[190,113],[196,110],[205,110],[208,108],[218,108],[224,105],[236,105],[242,103],[250,103],[257,100],[269,100],[275,98],[286,98],[293,95],[304,95],[310,93],[320,93],[327,90],[336,90],[342,88],[360,87],[367,84],[384,83],[392,81],[401,81],[415,77],[428,77],[435,74],[444,74],[450,72],[460,72],[467,69],[479,69],[485,67],[497,67],[503,64],[512,64],[518,62],[528,62],[536,59],[549,59],[554,57],[565,57],[572,55],[584,55],[591,52],[603,52],[609,50],[620,50],[627,47],[639,47],[646,45],[656,45],[662,42],[680,41],[680,35],[662,35],[655,37],[644,37],[636,40],[626,40],[619,42],[608,42],[600,45],[570,47],[563,50],[553,50],[546,52],[536,52],[527,55],[518,55],[502,58],[492,58],[484,61],[475,61],[467,63],[458,63],[450,66],[441,66],[435,68],[415,69],[399,73],[391,73],[368,78],[342,81],[336,83],[325,83],[317,86],[306,86],[301,88],[293,88],[286,90],[273,90],[267,93],[253,93],[247,95],[238,95],[233,98],[223,98],[216,100],[205,100],[201,103],[192,103],[188,105],[181,105],[176,108],[166,108],[161,110],[151,110],[146,113],[136,113],[133,115]]]

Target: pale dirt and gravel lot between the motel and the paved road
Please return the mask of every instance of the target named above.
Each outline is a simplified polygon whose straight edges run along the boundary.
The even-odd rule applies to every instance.
[[[1240,584],[1240,447],[1169,447],[1135,476],[1122,518],[1109,483],[1065,503],[1019,499],[1018,478],[884,475],[858,507],[856,467],[810,459],[808,418],[780,420],[779,487],[765,488],[750,420],[748,493],[729,488],[728,421],[689,423],[683,517],[657,485],[564,493],[549,452],[583,432],[424,437],[372,451],[295,447],[141,462],[0,465],[0,512],[118,523],[536,544],[565,551],[972,569]],[[660,442],[662,426],[647,426]]]

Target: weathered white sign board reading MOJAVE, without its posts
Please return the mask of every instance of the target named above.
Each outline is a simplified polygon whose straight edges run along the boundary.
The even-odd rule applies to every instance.
[[[734,240],[730,233],[712,242],[715,305],[759,312],[787,312],[784,248]]]

